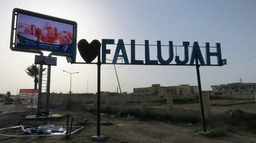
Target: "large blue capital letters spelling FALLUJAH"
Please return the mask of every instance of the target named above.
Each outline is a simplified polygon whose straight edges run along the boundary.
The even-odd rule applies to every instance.
[[[172,44],[172,41],[169,41],[168,45],[168,54],[169,57],[168,59],[164,60],[162,57],[162,45],[161,41],[156,41],[156,46],[157,48],[157,56],[156,58],[158,60],[151,60],[150,59],[150,45],[148,40],[145,40],[144,42],[144,60],[137,60],[135,59],[135,40],[131,40],[131,44],[126,44],[130,45],[130,57],[128,57],[127,52],[126,52],[126,47],[125,44],[123,43],[122,39],[118,40],[117,47],[115,48],[114,51],[114,57],[112,60],[112,64],[117,64],[117,59],[118,58],[123,58],[124,59],[124,64],[146,64],[146,65],[184,65],[184,66],[196,66],[195,59],[199,59],[200,66],[222,66],[222,58],[221,58],[221,46],[220,43],[216,43],[216,47],[212,47],[216,49],[216,52],[210,52],[210,46],[209,42],[205,43],[205,59],[203,58],[203,54],[201,53],[200,46],[198,42],[193,42],[192,46],[192,53],[189,58],[189,42],[182,42],[183,45],[179,47],[184,48],[184,59],[181,60],[179,55],[176,55],[174,57],[174,45]],[[102,39],[102,64],[106,63],[106,55],[110,54],[111,51],[110,49],[107,49],[107,45],[113,45],[114,40],[113,39]],[[141,44],[140,44],[141,45]],[[121,53],[121,54],[120,54]],[[212,64],[210,61],[211,57],[216,57],[217,58],[217,64]],[[130,60],[129,60],[130,59]],[[175,61],[175,63],[171,63],[172,61]]]

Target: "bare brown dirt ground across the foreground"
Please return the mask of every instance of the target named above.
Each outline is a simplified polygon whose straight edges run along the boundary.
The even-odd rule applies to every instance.
[[[19,108],[18,108],[19,107]],[[90,139],[96,135],[96,115],[81,109],[81,103],[73,103],[72,106],[65,111],[53,112],[52,114],[64,115],[60,119],[34,119],[25,120],[25,116],[29,115],[31,110],[22,109],[18,104],[3,105],[0,103],[1,111],[23,111],[10,112],[0,114],[0,128],[14,127],[16,125],[44,125],[55,124],[58,126],[66,126],[67,114],[73,117],[73,126],[84,126],[81,131],[65,138],[64,136],[40,137],[31,142],[98,142]],[[232,106],[212,106],[211,110],[216,112],[225,112],[229,109],[241,109],[250,112],[256,111],[255,103],[247,103]],[[32,110],[35,111],[35,110]],[[86,119],[85,119],[86,118]],[[255,142],[255,132],[236,131],[228,132],[224,137],[205,137],[197,135],[197,130],[201,127],[201,123],[171,123],[168,121],[141,120],[139,118],[127,119],[113,117],[111,115],[101,116],[101,135],[105,135],[106,139],[100,142]],[[106,125],[103,125],[106,123]],[[112,123],[113,125],[109,124]],[[20,129],[9,129],[0,131],[1,134],[15,135],[22,132]],[[24,134],[25,135],[25,134]],[[0,142],[26,142],[35,137],[15,137],[7,140],[0,136]]]

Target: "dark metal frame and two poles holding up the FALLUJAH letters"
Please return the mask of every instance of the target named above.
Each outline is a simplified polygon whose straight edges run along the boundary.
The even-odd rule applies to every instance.
[[[117,49],[119,49],[119,51],[122,51],[122,53],[125,53],[125,46],[124,45],[132,45],[132,44],[123,44],[123,42],[121,41],[121,46],[118,47],[118,44],[114,44],[114,40],[107,40],[107,41],[111,41],[109,44],[112,44],[112,45],[117,45]],[[102,42],[104,43],[104,42]],[[140,45],[140,46],[145,46],[143,44],[135,44],[135,41],[132,41],[133,43],[133,46],[131,46],[131,51],[134,51],[135,50],[135,45]],[[184,43],[184,42],[183,42]],[[189,45],[189,42],[187,43]],[[198,45],[198,42],[194,42],[194,46],[186,46],[187,48],[188,47],[192,47],[193,49],[195,49],[195,51],[192,50],[192,56],[193,56],[193,61],[196,63],[194,64],[194,62],[192,61],[190,64],[171,64],[171,62],[167,63],[167,64],[164,64],[164,63],[161,63],[159,64],[158,62],[157,63],[136,63],[135,61],[135,51],[134,52],[131,52],[133,54],[131,54],[131,58],[134,58],[133,60],[135,62],[127,62],[127,55],[126,55],[126,63],[117,63],[116,60],[115,62],[112,60],[112,63],[106,63],[106,55],[102,55],[101,57],[101,50],[99,51],[98,53],[98,56],[97,56],[97,63],[86,63],[86,62],[75,62],[74,64],[97,64],[97,135],[96,136],[92,136],[92,138],[97,138],[98,140],[103,140],[105,138],[105,136],[101,136],[101,133],[100,133],[100,97],[101,97],[101,64],[126,64],[126,65],[153,65],[153,66],[196,66],[196,73],[197,73],[197,83],[198,83],[198,87],[199,87],[199,99],[200,99],[200,109],[201,109],[201,122],[202,122],[202,126],[203,126],[203,132],[204,133],[207,133],[207,128],[206,128],[206,125],[205,125],[205,115],[204,115],[204,103],[203,103],[203,95],[202,95],[202,89],[201,89],[201,78],[200,78],[200,71],[199,71],[199,67],[200,66],[224,66],[226,64],[226,59],[222,59],[221,58],[221,47],[220,47],[220,43],[216,43],[216,48],[217,49],[217,52],[214,53],[214,52],[210,52],[210,46],[209,46],[209,43],[205,43],[206,46],[203,46],[207,49],[207,53],[208,54],[208,57],[207,57],[207,60],[209,61],[210,57],[211,56],[216,56],[218,59],[217,59],[217,64],[210,64],[210,61],[207,62],[207,64],[201,64],[201,61],[202,58],[199,57],[198,54],[201,53],[200,51],[200,47],[202,46],[199,46]],[[105,44],[101,44],[102,46],[102,51],[105,50],[105,53],[104,54],[110,54],[110,50],[109,49],[106,49],[106,43]],[[196,46],[195,46],[196,45]],[[158,42],[158,45],[149,45],[148,42],[147,42],[147,47],[145,46],[145,54],[146,53],[149,53],[148,52],[148,46],[157,46],[158,47],[158,53],[159,53],[159,49],[160,49],[160,46],[169,46],[170,49],[172,48],[172,57],[174,57],[174,53],[173,53],[173,47],[184,47],[185,46],[173,46],[172,45],[172,42],[171,42],[171,45],[160,45],[160,42]],[[146,48],[147,48],[147,52],[146,52]],[[119,52],[118,52],[119,53]],[[116,51],[115,51],[115,59],[118,59],[119,57],[123,58],[123,55],[119,55]],[[218,55],[218,53],[220,53],[220,55]],[[188,54],[188,53],[187,53]],[[177,57],[177,53],[176,53],[176,57]],[[101,61],[101,58],[103,60],[103,62]],[[179,57],[177,57],[179,58]],[[148,59],[149,59],[149,54],[148,54]],[[191,58],[192,59],[192,58]],[[163,60],[162,60],[163,61]],[[200,64],[199,64],[200,62]],[[203,63],[203,61],[202,61]]]

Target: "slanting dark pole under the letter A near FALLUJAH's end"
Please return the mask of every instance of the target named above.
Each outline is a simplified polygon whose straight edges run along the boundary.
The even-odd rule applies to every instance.
[[[197,83],[199,88],[199,97],[200,97],[200,105],[201,105],[201,116],[202,116],[202,124],[204,132],[206,132],[205,127],[205,118],[204,118],[204,103],[203,103],[203,97],[202,97],[202,89],[201,89],[201,80],[200,80],[200,71],[199,71],[199,63],[198,59],[196,59],[196,73],[197,73]]]

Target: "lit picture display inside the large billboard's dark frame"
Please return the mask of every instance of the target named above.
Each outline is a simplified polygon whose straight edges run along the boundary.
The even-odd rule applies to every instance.
[[[18,14],[17,46],[71,53],[72,41],[73,25]]]

